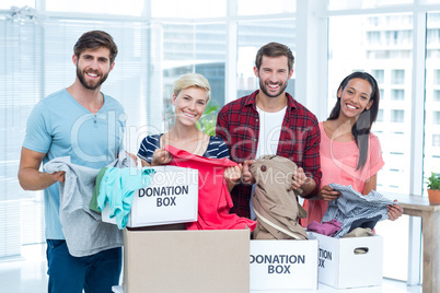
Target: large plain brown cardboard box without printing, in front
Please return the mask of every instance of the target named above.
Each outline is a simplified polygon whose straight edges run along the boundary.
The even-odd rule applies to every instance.
[[[124,231],[124,293],[250,292],[250,230]]]

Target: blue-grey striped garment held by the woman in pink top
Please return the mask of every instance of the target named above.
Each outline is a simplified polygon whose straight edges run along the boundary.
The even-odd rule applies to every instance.
[[[361,222],[364,220],[382,221],[389,219],[386,206],[397,204],[383,197],[375,190],[363,196],[362,194],[352,189],[352,186],[343,186],[338,184],[331,184],[336,191],[340,191],[340,198],[329,201],[327,211],[324,214],[322,222],[327,222],[336,219],[341,223],[341,228],[334,235],[335,238],[340,238],[349,233],[355,227],[351,227],[354,222]]]

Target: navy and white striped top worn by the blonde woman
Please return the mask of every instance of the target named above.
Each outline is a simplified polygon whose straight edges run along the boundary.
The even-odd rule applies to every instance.
[[[151,165],[151,160],[153,159],[153,153],[155,149],[161,145],[161,134],[148,136],[140,143],[138,151],[138,156]],[[206,149],[204,155],[209,159],[229,159],[228,146],[221,138],[209,137],[208,148]]]

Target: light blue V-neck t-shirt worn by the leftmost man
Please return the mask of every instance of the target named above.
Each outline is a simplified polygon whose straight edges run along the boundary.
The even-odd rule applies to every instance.
[[[45,153],[43,164],[70,156],[72,164],[101,168],[115,161],[124,149],[125,120],[124,107],[113,97],[104,95],[104,105],[92,114],[63,89],[35,105],[23,146]],[[44,199],[46,238],[63,239],[58,183],[44,190]]]

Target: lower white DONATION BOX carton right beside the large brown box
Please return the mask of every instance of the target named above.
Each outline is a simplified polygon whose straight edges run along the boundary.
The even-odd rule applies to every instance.
[[[317,241],[251,241],[251,290],[316,290]]]

